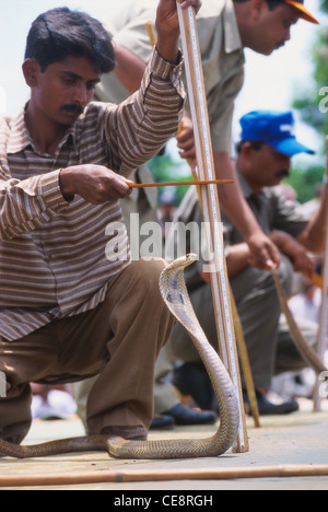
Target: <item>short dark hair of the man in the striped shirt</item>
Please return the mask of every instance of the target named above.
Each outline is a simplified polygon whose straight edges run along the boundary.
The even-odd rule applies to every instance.
[[[68,56],[89,58],[102,73],[113,71],[116,65],[110,36],[101,22],[84,12],[51,9],[33,22],[25,59],[38,62],[44,72]]]

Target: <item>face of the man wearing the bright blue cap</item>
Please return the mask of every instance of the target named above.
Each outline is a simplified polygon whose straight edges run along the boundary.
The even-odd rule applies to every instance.
[[[250,148],[244,152],[243,160],[247,164],[247,179],[254,189],[274,187],[289,177],[291,156],[280,153],[271,146],[263,144],[260,150]]]

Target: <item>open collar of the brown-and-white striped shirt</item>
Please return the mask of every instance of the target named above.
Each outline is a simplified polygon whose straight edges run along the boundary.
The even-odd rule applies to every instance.
[[[31,138],[31,135],[27,130],[26,123],[25,123],[25,112],[27,109],[28,102],[24,106],[24,108],[20,112],[17,117],[15,117],[11,125],[9,141],[7,146],[7,152],[9,154],[19,153],[20,151],[25,150],[28,146],[31,146],[34,150],[34,143]],[[77,143],[75,143],[75,125],[69,127],[61,139],[59,147],[62,147],[66,142],[68,142],[69,138],[71,138],[74,151],[77,151]]]

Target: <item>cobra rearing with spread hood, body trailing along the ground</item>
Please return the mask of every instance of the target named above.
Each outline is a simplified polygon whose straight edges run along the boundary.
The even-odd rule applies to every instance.
[[[0,440],[0,455],[31,458],[72,452],[105,451],[118,458],[164,459],[215,457],[226,453],[238,432],[238,402],[229,373],[207,340],[188,295],[184,270],[196,259],[196,255],[187,255],[168,265],[161,275],[160,289],[168,310],[189,333],[211,379],[220,408],[220,426],[214,435],[209,439],[165,441],[127,441],[121,438],[89,435],[27,446]]]

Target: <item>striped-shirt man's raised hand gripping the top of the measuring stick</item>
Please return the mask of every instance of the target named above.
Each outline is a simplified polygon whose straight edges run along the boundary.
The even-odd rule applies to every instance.
[[[178,58],[179,20],[176,2],[183,9],[195,7],[198,12],[201,0],[160,0],[157,7],[157,51],[163,59],[176,63]]]

